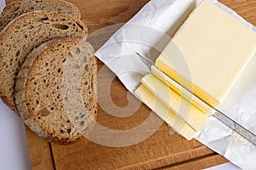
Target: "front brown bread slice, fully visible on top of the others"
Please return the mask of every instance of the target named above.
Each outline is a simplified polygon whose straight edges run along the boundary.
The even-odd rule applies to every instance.
[[[96,119],[93,53],[89,42],[61,39],[29,54],[15,93],[20,116],[26,117],[26,123],[35,121],[29,127],[38,124],[58,144],[68,144],[88,132]]]

